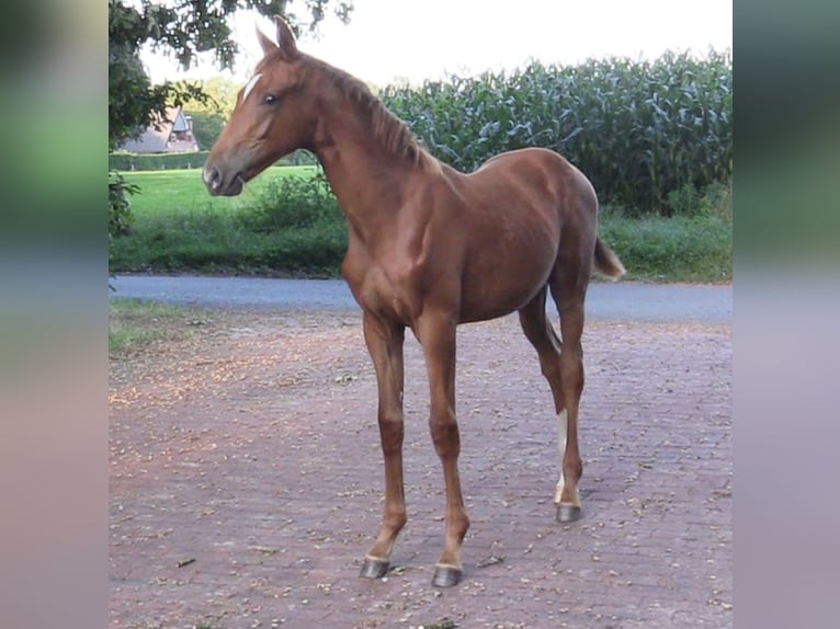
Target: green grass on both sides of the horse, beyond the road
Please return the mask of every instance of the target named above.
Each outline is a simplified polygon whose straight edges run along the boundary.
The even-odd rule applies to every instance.
[[[196,170],[124,173],[141,193],[132,197],[132,233],[113,241],[112,272],[337,276],[347,224],[314,173],[274,167],[232,198],[211,197]],[[730,186],[680,191],[669,204],[669,218],[602,208],[599,231],[627,278],[731,281]]]

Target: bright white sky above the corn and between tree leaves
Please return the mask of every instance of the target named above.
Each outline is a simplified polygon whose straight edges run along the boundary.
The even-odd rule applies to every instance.
[[[171,59],[144,55],[152,81],[246,82],[262,54],[254,28],[273,22],[241,12],[234,36],[241,48],[232,72],[203,62],[188,72]],[[355,0],[348,25],[330,16],[318,37],[298,47],[360,79],[386,84],[512,70],[536,59],[574,65],[588,58],[656,58],[665,50],[703,56],[733,46],[731,0]]]

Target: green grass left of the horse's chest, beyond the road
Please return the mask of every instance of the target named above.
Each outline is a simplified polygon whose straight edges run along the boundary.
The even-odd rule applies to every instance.
[[[294,229],[265,229],[261,220],[271,214],[265,206],[290,204],[284,196],[290,191],[282,187],[290,178],[304,178],[304,190],[291,192],[302,195],[302,204],[308,202],[313,186],[320,185],[310,183],[315,167],[268,169],[229,198],[211,197],[198,172],[124,173],[141,192],[132,197],[132,233],[113,241],[112,272],[338,274],[347,248],[347,226],[338,211],[334,220]]]

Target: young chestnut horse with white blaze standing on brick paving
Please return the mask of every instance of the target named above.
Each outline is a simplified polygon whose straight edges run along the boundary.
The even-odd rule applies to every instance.
[[[583,469],[578,407],[584,298],[593,272],[617,279],[625,270],[598,237],[594,188],[560,155],[523,148],[462,173],[423,148],[362,81],[300,52],[286,22],[275,20],[276,42],[257,30],[264,56],[238,93],[202,178],[211,195],[232,196],[293,150],[308,149],[320,160],[348,221],[341,271],[362,310],[378,389],[385,508],[360,576],[388,573],[407,522],[402,348],[408,328],[425,362],[429,427],[446,494],[444,547],[432,584],[450,587],[463,575],[469,527],[458,476],[456,327],[519,313],[558,416],[556,519],[576,521]],[[548,293],[560,316],[559,336],[546,317]]]

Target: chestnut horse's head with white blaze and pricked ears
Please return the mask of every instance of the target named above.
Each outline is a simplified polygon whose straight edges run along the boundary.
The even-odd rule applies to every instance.
[[[212,195],[235,196],[245,183],[295,149],[306,148],[315,128],[303,83],[304,55],[295,35],[276,16],[277,41],[257,35],[263,58],[239,91],[237,104],[204,165]]]

